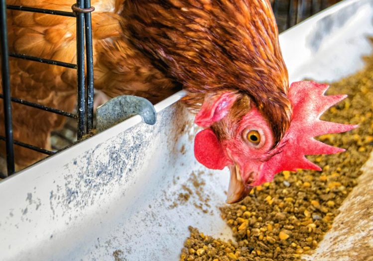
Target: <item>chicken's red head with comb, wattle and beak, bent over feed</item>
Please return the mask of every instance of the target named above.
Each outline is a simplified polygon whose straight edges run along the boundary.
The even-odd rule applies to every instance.
[[[205,98],[195,118],[195,123],[205,129],[195,137],[194,153],[207,168],[230,169],[227,203],[241,201],[254,186],[272,181],[273,176],[283,170],[320,171],[305,155],[345,151],[314,139],[357,127],[319,119],[329,107],[347,97],[324,96],[328,87],[313,81],[295,82],[290,86],[291,123],[277,144],[268,124],[270,119],[261,115],[249,96],[226,92]]]

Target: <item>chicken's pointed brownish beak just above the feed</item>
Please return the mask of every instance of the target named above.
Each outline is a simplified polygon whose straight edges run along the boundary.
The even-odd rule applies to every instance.
[[[233,204],[243,200],[249,195],[252,186],[246,185],[241,177],[240,168],[237,165],[230,167],[231,180],[229,182],[227,203]]]

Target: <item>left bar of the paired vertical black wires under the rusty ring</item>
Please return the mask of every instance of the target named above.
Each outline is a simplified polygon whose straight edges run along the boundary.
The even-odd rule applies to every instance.
[[[84,0],[77,0],[77,6],[84,8]],[[86,94],[84,82],[84,13],[76,14],[77,33],[77,79],[78,79],[78,140],[85,134],[86,128]]]

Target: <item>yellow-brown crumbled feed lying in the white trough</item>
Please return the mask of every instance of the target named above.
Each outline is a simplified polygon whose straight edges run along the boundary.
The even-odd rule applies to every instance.
[[[332,227],[338,208],[357,185],[361,167],[373,146],[373,57],[366,68],[331,84],[327,95],[349,97],[328,110],[322,119],[359,124],[348,133],[318,137],[327,144],[345,148],[335,155],[307,156],[323,172],[284,171],[273,182],[258,186],[238,204],[221,209],[238,244],[201,236],[190,228],[180,256],[194,261],[290,261],[315,249]],[[205,251],[190,254],[188,249]]]

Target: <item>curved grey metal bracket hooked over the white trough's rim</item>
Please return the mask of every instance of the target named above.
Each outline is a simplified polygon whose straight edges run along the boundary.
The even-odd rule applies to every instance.
[[[115,97],[97,108],[97,133],[137,114],[146,124],[154,125],[156,122],[157,113],[153,104],[147,99],[132,95]]]

